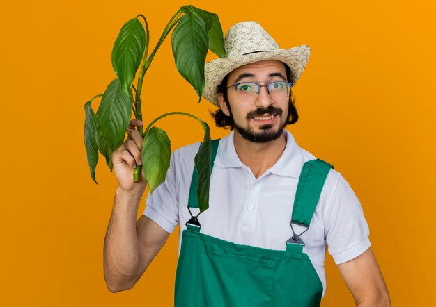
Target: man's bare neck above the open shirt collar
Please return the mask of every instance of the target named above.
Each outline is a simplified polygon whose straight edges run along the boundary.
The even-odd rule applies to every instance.
[[[235,130],[233,142],[236,154],[241,162],[251,169],[255,178],[270,169],[279,160],[286,147],[284,132],[277,140],[256,143],[242,138],[242,135]]]

